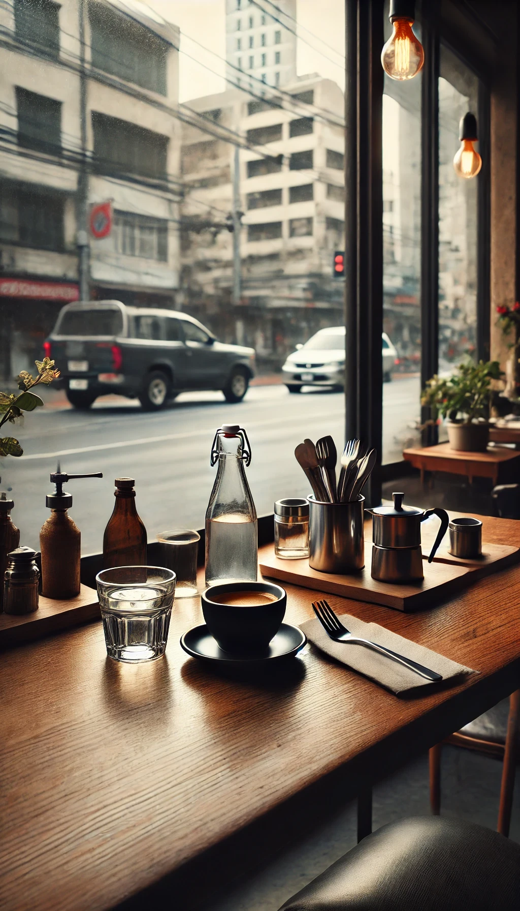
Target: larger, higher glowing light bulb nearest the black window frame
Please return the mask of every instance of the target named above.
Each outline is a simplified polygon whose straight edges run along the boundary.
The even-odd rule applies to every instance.
[[[413,0],[390,0],[389,19],[393,24],[393,35],[381,52],[381,63],[391,79],[413,79],[423,68],[423,45],[413,35],[415,20]]]

